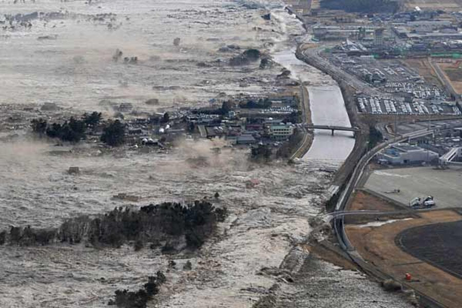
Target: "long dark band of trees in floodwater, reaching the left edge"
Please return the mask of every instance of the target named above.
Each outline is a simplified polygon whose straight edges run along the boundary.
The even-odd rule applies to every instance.
[[[199,248],[213,234],[216,225],[227,216],[226,208],[216,208],[206,201],[192,204],[150,204],[139,210],[114,208],[95,218],[81,216],[65,221],[59,228],[33,229],[30,226],[11,227],[0,233],[0,244],[9,240],[17,245],[46,245],[55,241],[79,243],[88,241],[95,246],[119,247],[134,241],[137,250],[144,242],[160,243],[184,239],[188,248]]]

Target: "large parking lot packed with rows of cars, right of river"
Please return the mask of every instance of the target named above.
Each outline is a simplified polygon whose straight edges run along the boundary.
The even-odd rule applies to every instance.
[[[383,95],[358,95],[358,111],[372,114],[462,114],[448,93],[428,83],[419,73],[398,60],[377,60],[373,56],[330,53],[329,60],[379,89]]]

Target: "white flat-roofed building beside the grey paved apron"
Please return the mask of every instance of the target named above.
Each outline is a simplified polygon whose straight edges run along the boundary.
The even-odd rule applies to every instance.
[[[392,145],[378,154],[380,163],[391,165],[432,162],[437,160],[438,157],[438,153],[407,143]]]

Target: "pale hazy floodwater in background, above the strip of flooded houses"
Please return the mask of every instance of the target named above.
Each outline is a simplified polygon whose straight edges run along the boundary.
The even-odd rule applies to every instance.
[[[271,90],[266,72],[252,69],[248,76],[248,68],[221,65],[232,55],[220,47],[262,48],[279,27],[241,7],[203,0],[2,2],[2,14],[44,14],[31,19],[31,27],[8,21],[7,29],[0,27],[0,103],[109,112],[110,101],[153,110],[144,101],[180,107],[207,104],[222,92]],[[112,59],[116,49],[123,52],[118,62]],[[138,61],[124,63],[124,57]],[[204,62],[213,65],[198,66]]]

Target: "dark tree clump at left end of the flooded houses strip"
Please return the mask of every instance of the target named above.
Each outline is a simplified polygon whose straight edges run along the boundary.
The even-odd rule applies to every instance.
[[[94,132],[102,120],[101,112],[84,113],[80,119],[74,117],[64,123],[48,123],[44,119],[31,121],[32,131],[39,136],[47,136],[65,142],[78,143]],[[107,122],[103,127],[101,141],[110,146],[119,146],[124,142],[125,125],[119,120]]]

